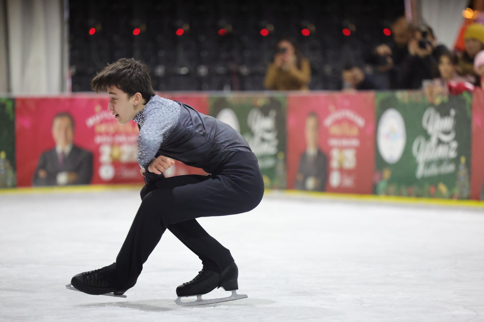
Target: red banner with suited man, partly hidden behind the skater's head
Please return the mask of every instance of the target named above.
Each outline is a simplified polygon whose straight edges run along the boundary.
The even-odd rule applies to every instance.
[[[204,96],[171,96],[207,113]],[[138,128],[120,125],[101,95],[16,99],[17,186],[143,183]],[[166,176],[203,174],[176,162]]]

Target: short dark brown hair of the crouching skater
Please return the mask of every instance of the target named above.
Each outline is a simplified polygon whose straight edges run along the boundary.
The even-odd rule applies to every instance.
[[[121,58],[107,65],[91,82],[96,92],[105,92],[109,86],[116,86],[129,97],[141,93],[146,102],[155,95],[148,67],[132,58]]]

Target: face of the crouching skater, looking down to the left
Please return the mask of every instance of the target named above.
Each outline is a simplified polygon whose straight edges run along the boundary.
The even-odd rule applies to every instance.
[[[141,93],[136,93],[130,97],[116,86],[109,86],[107,93],[109,94],[107,109],[112,112],[119,124],[126,124],[131,121],[144,107]]]

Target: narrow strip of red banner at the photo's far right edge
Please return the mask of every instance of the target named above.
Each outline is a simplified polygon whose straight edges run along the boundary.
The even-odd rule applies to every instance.
[[[470,152],[470,199],[484,200],[484,91],[472,95],[472,143]]]

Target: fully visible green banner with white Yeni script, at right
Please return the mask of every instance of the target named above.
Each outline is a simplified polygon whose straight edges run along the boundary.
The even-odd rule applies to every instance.
[[[377,93],[375,194],[469,199],[471,101]]]

